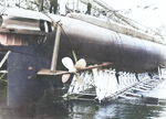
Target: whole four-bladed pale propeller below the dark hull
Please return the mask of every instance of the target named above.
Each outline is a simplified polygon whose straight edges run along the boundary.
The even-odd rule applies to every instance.
[[[79,69],[86,67],[86,61],[84,58],[79,60],[75,65],[70,57],[62,58],[62,64],[69,69],[69,73],[74,73],[79,84],[83,84],[83,79],[76,74]],[[62,76],[62,82],[66,83],[71,74],[64,74]]]

